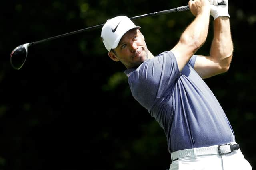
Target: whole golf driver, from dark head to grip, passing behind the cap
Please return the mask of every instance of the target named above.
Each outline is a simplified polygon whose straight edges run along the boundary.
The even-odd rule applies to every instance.
[[[225,5],[225,2],[222,1],[218,5]],[[149,16],[156,16],[156,15],[160,15],[160,14],[167,14],[167,13],[171,13],[171,12],[181,12],[181,11],[188,11],[188,10],[189,10],[188,5],[187,6],[180,6],[180,7],[169,9],[169,10],[163,10],[163,11],[159,11],[159,12],[152,12],[152,13],[149,13],[149,14],[143,14],[143,15],[140,15],[140,16],[134,16],[134,17],[131,17],[130,19],[135,20],[135,19],[139,19],[139,18],[146,18],[146,17],[149,17]],[[43,42],[46,42],[46,41],[50,41],[50,40],[53,40],[53,39],[57,39],[57,38],[60,38],[60,37],[65,37],[65,36],[68,36],[68,35],[81,33],[83,31],[88,31],[88,30],[100,28],[100,27],[103,27],[103,25],[104,24],[100,24],[100,25],[80,29],[80,30],[77,30],[77,31],[73,31],[73,32],[70,32],[70,33],[57,35],[57,36],[50,37],[50,38],[47,38],[47,39],[43,39],[43,40],[40,40],[40,41],[35,41],[35,42],[25,43],[23,45],[19,45],[14,50],[12,50],[12,53],[10,55],[10,64],[12,65],[12,67],[14,69],[19,70],[24,65],[24,63],[26,61],[26,58],[28,56],[28,47],[30,47],[32,45],[39,44],[39,43],[43,43]]]

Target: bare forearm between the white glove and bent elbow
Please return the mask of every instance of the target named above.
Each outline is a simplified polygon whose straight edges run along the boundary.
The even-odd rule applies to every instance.
[[[214,20],[214,38],[210,50],[210,57],[216,62],[230,64],[233,54],[233,43],[228,17],[218,17]]]

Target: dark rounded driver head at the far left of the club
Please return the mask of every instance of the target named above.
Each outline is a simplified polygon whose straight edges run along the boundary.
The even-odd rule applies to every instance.
[[[14,50],[12,50],[10,55],[10,63],[14,69],[20,70],[20,68],[22,68],[24,65],[28,55],[28,46],[29,43],[26,43],[19,45]]]

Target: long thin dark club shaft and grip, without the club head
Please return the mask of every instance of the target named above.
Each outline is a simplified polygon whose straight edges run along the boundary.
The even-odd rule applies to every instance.
[[[136,19],[139,19],[139,18],[146,18],[146,17],[149,17],[149,16],[156,16],[156,15],[167,14],[167,13],[171,13],[171,12],[181,12],[181,11],[187,11],[187,10],[189,10],[188,5],[187,6],[180,6],[180,7],[169,9],[169,10],[152,12],[152,13],[144,14],[144,15],[140,15],[140,16],[134,16],[134,17],[131,17],[130,19],[131,20],[136,20]],[[43,43],[43,42],[46,42],[46,41],[50,41],[50,40],[53,40],[53,39],[57,39],[57,38],[60,38],[60,37],[66,37],[68,35],[73,35],[73,34],[81,33],[81,32],[84,32],[84,31],[89,31],[89,30],[92,30],[92,29],[100,28],[100,27],[103,27],[103,25],[104,25],[104,23],[100,24],[100,25],[95,25],[95,26],[92,26],[92,27],[80,29],[80,30],[77,30],[77,31],[73,31],[73,32],[70,32],[70,33],[65,33],[65,34],[62,34],[62,35],[57,35],[57,36],[54,36],[54,37],[42,39],[42,40],[39,40],[39,41],[29,43],[29,46],[36,45],[36,44],[39,44],[39,43]]]

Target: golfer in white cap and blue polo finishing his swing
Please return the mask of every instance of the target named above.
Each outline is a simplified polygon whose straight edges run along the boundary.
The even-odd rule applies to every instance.
[[[170,170],[251,170],[218,100],[203,81],[229,69],[233,43],[228,1],[190,0],[195,19],[170,50],[154,56],[128,17],[108,20],[102,41],[108,56],[127,68],[134,98],[164,129]],[[195,55],[214,17],[210,56]]]

